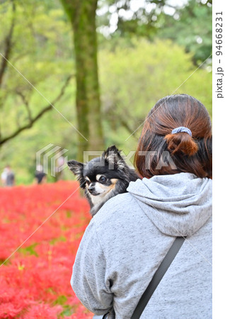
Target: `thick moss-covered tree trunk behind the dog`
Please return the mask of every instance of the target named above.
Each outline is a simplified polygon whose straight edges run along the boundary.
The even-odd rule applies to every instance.
[[[98,0],[61,0],[74,32],[76,113],[79,157],[84,150],[103,150],[98,84],[96,9]],[[82,158],[81,158],[82,157]]]

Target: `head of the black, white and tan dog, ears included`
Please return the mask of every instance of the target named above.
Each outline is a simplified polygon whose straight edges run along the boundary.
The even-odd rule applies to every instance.
[[[109,194],[115,189],[118,180],[126,180],[127,164],[115,145],[108,147],[101,157],[91,159],[86,164],[74,160],[67,164],[91,198]]]

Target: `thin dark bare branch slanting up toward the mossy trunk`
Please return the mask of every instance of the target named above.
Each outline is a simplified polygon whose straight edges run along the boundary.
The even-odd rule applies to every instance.
[[[20,128],[17,128],[15,130],[15,132],[11,133],[10,135],[6,136],[6,138],[3,138],[2,140],[0,140],[0,146],[3,145],[5,142],[8,142],[8,140],[11,140],[12,138],[15,138],[18,134],[20,134],[21,132],[23,132],[23,130],[27,130],[28,128],[31,128],[33,126],[33,124],[39,120],[39,118],[41,118],[47,111],[52,110],[52,106],[54,105],[54,103],[57,103],[57,101],[59,101],[59,99],[61,99],[61,97],[64,95],[64,91],[67,87],[67,84],[69,83],[69,80],[71,79],[71,77],[74,77],[74,75],[70,75],[66,82],[64,83],[64,85],[62,86],[62,89],[59,93],[59,95],[52,101],[52,103],[50,103],[49,105],[45,106],[45,108],[42,108],[42,110],[37,113],[37,115],[35,117],[31,117],[31,113],[29,113],[29,122],[26,123],[25,125],[21,126]],[[29,106],[28,106],[29,108]],[[30,112],[30,108],[29,108],[29,112]]]

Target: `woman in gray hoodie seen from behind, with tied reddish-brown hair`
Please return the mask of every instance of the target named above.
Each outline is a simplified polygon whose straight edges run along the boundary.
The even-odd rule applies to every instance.
[[[202,103],[158,101],[135,164],[144,178],[91,220],[71,286],[93,313],[129,319],[175,237],[186,236],[141,318],[212,318],[212,128]]]

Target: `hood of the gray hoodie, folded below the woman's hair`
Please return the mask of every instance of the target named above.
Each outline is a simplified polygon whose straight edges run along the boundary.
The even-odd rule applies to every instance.
[[[131,181],[127,191],[166,235],[190,236],[212,216],[212,180],[191,173]]]

